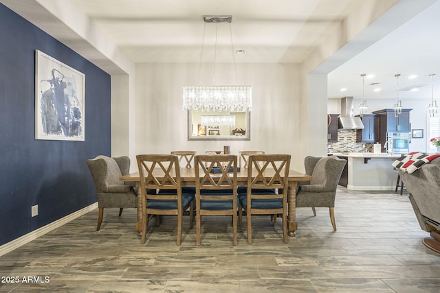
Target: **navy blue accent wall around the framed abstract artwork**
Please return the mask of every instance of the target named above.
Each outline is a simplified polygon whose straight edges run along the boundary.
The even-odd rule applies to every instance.
[[[85,141],[35,139],[35,49],[85,73]],[[96,202],[85,160],[110,155],[110,85],[108,73],[0,4],[0,245]]]

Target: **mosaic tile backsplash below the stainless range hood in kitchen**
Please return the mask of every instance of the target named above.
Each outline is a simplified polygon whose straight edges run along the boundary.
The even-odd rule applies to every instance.
[[[373,143],[356,142],[356,130],[338,130],[338,142],[327,145],[327,152],[371,152],[373,149]]]

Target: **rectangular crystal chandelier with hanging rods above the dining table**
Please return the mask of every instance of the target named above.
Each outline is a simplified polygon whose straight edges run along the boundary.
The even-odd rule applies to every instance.
[[[231,23],[232,16],[203,16],[206,23]],[[215,35],[214,47],[214,72],[217,58],[217,32]],[[203,33],[204,34],[204,33]],[[203,36],[204,38],[204,36]],[[230,38],[232,56],[234,57],[234,45],[232,43],[232,30],[230,27]],[[201,50],[203,54],[203,48]],[[201,59],[201,58],[200,58]],[[235,58],[234,58],[235,68]],[[235,69],[236,71],[236,69]],[[236,73],[235,73],[236,74]],[[184,86],[183,89],[183,110],[201,111],[229,111],[244,112],[252,110],[252,86],[247,85],[211,85],[211,86]]]

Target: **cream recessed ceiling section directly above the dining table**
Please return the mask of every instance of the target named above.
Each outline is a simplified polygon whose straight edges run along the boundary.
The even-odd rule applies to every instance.
[[[357,0],[73,0],[135,62],[300,63]],[[231,15],[232,23],[204,23]],[[216,30],[218,27],[217,47]],[[232,32],[232,38],[231,34]]]

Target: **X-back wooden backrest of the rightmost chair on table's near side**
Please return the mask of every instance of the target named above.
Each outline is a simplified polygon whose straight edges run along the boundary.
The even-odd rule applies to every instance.
[[[250,155],[248,167],[248,194],[251,192],[251,189],[282,188],[283,193],[287,196],[290,157],[289,154]],[[254,196],[252,196],[252,198],[254,198]]]

